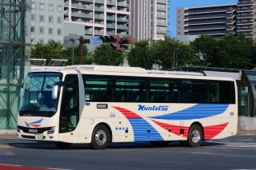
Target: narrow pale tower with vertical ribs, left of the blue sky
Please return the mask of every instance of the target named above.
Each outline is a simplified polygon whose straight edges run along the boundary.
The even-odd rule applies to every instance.
[[[168,27],[170,0],[131,2],[131,35],[136,40],[164,39]]]

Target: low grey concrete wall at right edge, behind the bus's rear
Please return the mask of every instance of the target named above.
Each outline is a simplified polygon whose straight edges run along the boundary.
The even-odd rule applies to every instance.
[[[238,130],[256,130],[256,117],[239,117]]]

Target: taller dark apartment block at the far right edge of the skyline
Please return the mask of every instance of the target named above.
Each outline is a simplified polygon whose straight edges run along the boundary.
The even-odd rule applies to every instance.
[[[239,0],[237,5],[238,34],[246,34],[247,38],[256,38],[256,1]]]

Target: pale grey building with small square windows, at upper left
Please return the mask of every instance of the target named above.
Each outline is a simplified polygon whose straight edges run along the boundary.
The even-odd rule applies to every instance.
[[[31,43],[63,43],[63,0],[32,0]]]

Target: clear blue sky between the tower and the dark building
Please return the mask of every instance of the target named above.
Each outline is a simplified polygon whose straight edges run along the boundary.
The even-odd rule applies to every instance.
[[[176,37],[176,8],[236,4],[238,0],[170,0],[170,37]]]

